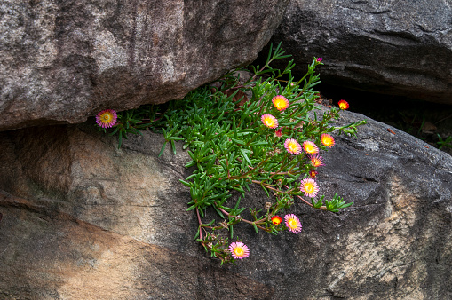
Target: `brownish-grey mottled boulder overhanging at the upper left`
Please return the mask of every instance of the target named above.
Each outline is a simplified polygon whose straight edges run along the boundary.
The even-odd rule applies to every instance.
[[[288,3],[3,1],[0,130],[182,99],[256,59]]]

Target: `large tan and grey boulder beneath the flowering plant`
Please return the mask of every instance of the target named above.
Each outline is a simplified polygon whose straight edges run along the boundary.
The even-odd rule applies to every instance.
[[[144,132],[118,150],[90,121],[0,133],[0,296],[452,296],[452,159],[407,133],[368,120],[358,138],[335,136],[319,186],[353,206],[296,202],[297,235],[238,225],[250,257],[220,266],[193,241],[180,145],[157,158],[163,137]],[[266,195],[253,189],[243,202],[262,209]]]

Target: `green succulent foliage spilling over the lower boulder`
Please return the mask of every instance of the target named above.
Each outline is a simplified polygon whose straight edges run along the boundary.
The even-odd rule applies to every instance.
[[[187,210],[194,210],[199,222],[194,239],[222,264],[235,262],[223,233],[228,232],[229,238],[234,239],[234,225],[246,223],[256,232],[260,229],[277,234],[288,228],[283,222],[274,224],[272,217],[284,213],[295,199],[313,209],[332,212],[352,205],[337,194],[330,201],[324,200],[325,196],[317,201],[315,197],[305,200],[300,179],[308,178],[318,166],[313,166],[311,156],[305,151],[289,153],[284,143],[289,138],[296,140],[298,146],[311,141],[321,151],[327,151],[329,147],[321,142],[322,134],[356,135],[356,128],[365,122],[334,126],[340,113],[336,107],[321,115],[313,113],[320,108],[316,103],[319,95],[313,87],[320,83],[314,71],[321,65],[321,59],[314,58],[306,75],[296,80],[291,74],[293,60],[282,71],[270,67],[274,59],[287,57],[278,45],[274,51],[270,50],[264,67],[252,67],[250,79],[243,82],[235,70],[216,84],[202,86],[184,99],[172,102],[163,114],[164,122],[153,123],[154,129],[161,130],[165,138],[159,155],[168,143],[175,153],[174,141],[184,142],[183,148],[191,158],[186,168],[194,171],[180,182],[190,191]],[[288,99],[289,107],[278,110],[272,102],[275,96]],[[264,114],[277,119],[277,129],[262,122]],[[120,138],[125,133],[136,133],[140,115],[139,112],[121,114],[121,125],[115,129]],[[240,202],[250,186],[261,186],[266,192],[265,209],[241,207]],[[238,194],[238,199],[234,198],[237,201],[231,206],[228,201],[233,193]],[[216,211],[223,221],[218,223],[214,219],[203,223],[208,209]],[[248,212],[250,219],[244,217]]]

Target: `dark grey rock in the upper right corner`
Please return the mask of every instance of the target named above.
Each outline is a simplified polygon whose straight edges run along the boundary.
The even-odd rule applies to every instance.
[[[323,83],[452,104],[449,1],[291,1],[272,41]]]

